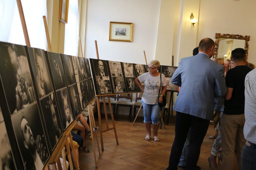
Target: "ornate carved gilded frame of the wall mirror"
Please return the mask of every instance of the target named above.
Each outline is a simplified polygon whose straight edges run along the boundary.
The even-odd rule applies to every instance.
[[[216,41],[215,41],[215,48],[214,48],[214,54],[213,54],[214,58],[217,58],[217,56],[218,56],[218,49],[219,49],[219,40],[220,40],[220,38],[245,40],[245,47],[244,47],[244,49],[245,49],[246,54],[248,54],[248,49],[249,49],[248,41],[250,40],[250,36],[216,33],[215,34],[215,38],[216,38]]]

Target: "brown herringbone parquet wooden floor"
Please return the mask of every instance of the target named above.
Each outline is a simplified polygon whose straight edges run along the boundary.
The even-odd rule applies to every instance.
[[[96,125],[98,125],[97,119],[95,121]],[[111,121],[109,121],[109,125],[112,127]],[[175,137],[174,123],[169,123],[169,125],[166,126],[166,129],[159,129],[158,137],[160,142],[155,142],[153,139],[150,141],[144,139],[146,130],[142,119],[137,119],[134,126],[132,126],[132,122],[129,122],[128,118],[119,118],[118,121],[115,121],[115,125],[119,145],[116,144],[114,130],[104,132],[104,151],[101,152],[100,156],[96,137],[94,137],[98,168],[95,167],[92,140],[90,140],[88,136],[86,137],[86,146],[91,153],[79,152],[79,163],[82,170],[165,170],[167,168],[172,143]],[[102,118],[102,127],[103,129],[106,127],[105,118]],[[100,146],[99,149],[101,151],[99,131],[97,133]],[[209,170],[207,159],[210,156],[214,139],[208,139],[208,136],[211,136],[212,134],[214,134],[213,125],[209,125],[197,163],[202,170]],[[236,165],[234,167],[234,170],[236,170]]]

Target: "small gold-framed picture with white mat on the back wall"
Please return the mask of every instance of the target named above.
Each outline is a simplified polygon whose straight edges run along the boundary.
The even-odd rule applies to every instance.
[[[109,41],[132,42],[133,23],[130,22],[110,22]]]

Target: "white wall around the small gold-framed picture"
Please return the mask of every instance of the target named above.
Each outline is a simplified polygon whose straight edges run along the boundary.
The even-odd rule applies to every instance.
[[[85,57],[145,64],[154,59],[160,0],[88,0]],[[108,41],[109,22],[132,22],[133,42]]]

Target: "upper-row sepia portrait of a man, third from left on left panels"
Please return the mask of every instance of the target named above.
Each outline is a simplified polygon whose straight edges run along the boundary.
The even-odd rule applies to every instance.
[[[48,52],[48,59],[51,67],[51,72],[53,76],[53,84],[55,86],[55,90],[66,87],[64,69],[61,61],[60,54]]]

